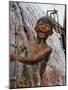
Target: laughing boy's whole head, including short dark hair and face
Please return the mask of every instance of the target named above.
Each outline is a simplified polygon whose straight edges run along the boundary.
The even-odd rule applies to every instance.
[[[37,21],[35,31],[37,33],[37,38],[47,39],[49,35],[52,34],[52,22],[48,17],[42,17]]]

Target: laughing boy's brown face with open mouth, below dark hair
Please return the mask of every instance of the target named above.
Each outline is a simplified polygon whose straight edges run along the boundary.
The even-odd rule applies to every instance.
[[[46,39],[51,34],[51,27],[47,23],[38,24],[37,37],[39,39]]]

